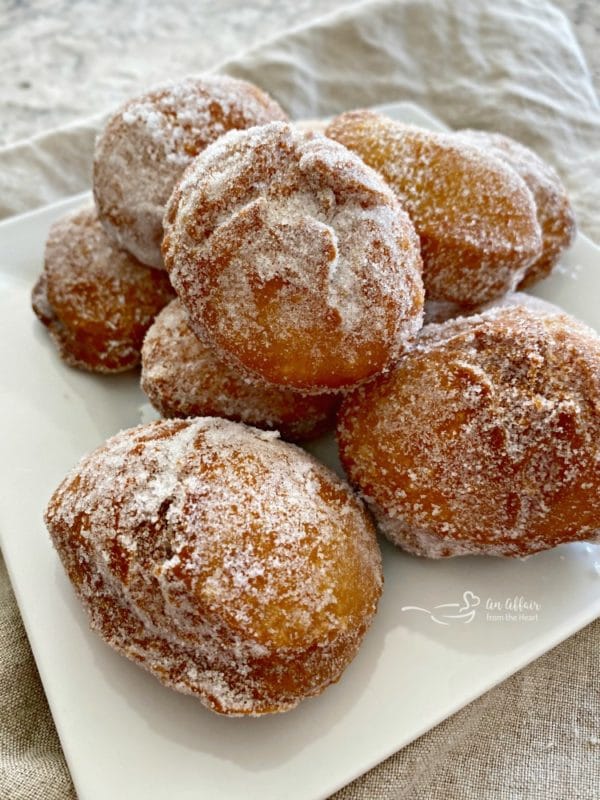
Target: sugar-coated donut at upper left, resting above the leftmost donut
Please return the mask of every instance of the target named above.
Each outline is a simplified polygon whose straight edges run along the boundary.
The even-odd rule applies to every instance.
[[[94,196],[102,224],[144,264],[162,268],[165,205],[187,165],[229,130],[287,119],[265,92],[227,75],[155,86],[128,100],[96,144]]]

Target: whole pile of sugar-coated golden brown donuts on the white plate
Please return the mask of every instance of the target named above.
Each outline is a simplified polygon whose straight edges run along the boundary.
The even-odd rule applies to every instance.
[[[373,520],[429,558],[598,537],[600,339],[520,291],[575,235],[531,150],[291,123],[205,75],[113,114],[93,184],[33,308],[69,365],[141,362],[164,419],[45,519],[92,627],[165,685],[262,715],[336,682],[382,591]],[[349,483],[289,443],[333,428]]]

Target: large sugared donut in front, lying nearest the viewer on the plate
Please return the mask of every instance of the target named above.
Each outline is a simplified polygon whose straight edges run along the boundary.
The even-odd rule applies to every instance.
[[[122,431],[65,478],[45,519],[100,636],[221,714],[320,694],[381,594],[375,530],[350,487],[227,420]]]

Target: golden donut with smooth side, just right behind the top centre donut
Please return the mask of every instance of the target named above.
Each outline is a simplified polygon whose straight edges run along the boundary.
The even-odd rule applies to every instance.
[[[371,111],[341,114],[326,133],[378,170],[408,211],[427,299],[485,303],[513,290],[540,257],[532,194],[499,158]]]

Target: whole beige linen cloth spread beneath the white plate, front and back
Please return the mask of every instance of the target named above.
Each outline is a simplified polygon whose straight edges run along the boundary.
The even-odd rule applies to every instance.
[[[600,241],[600,107],[569,23],[546,2],[361,3],[221,69],[265,88],[294,118],[407,101],[450,127],[510,134],[555,164],[580,228]],[[0,217],[88,188],[101,122],[0,150]],[[0,561],[0,798],[73,796]],[[335,797],[598,800],[600,621]]]

